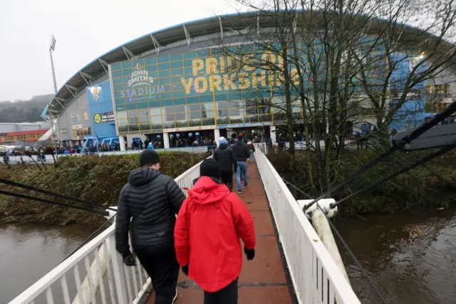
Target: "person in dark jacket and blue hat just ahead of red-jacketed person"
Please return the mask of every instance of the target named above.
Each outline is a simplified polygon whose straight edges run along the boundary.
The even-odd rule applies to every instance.
[[[233,190],[233,170],[237,171],[237,159],[228,141],[222,136],[219,138],[219,147],[214,150],[214,158],[220,166],[222,182],[227,185],[229,191]]]

